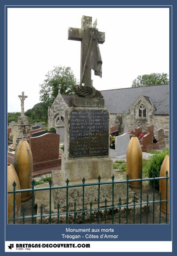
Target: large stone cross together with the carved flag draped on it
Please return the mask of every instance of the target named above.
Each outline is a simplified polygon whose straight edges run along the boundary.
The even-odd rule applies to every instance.
[[[98,44],[104,43],[105,33],[98,31],[96,25],[97,20],[92,27],[92,17],[82,16],[81,28],[68,29],[69,40],[81,41],[80,86],[84,84],[85,86],[92,87],[91,69],[95,71],[96,76],[102,76],[102,59]]]

